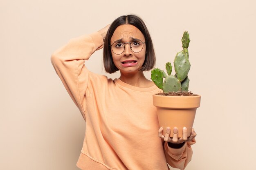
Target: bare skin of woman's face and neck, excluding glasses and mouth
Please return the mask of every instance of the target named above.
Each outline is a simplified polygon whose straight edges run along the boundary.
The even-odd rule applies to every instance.
[[[120,25],[113,33],[110,44],[114,42],[132,42],[132,38],[145,42],[144,35],[135,26],[130,24]],[[125,44],[124,52],[119,55],[112,52],[113,62],[119,69],[120,79],[123,82],[142,88],[154,85],[152,81],[146,79],[143,72],[139,71],[145,61],[145,56],[146,44],[144,44],[143,49],[139,53],[134,53],[130,49],[130,44]],[[137,64],[135,66],[125,67],[121,63],[127,60],[135,60]]]

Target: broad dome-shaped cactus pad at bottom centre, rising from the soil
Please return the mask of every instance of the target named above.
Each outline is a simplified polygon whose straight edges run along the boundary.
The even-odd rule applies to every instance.
[[[177,78],[175,78],[173,75],[168,75],[164,79],[163,91],[164,92],[181,91],[180,81]]]

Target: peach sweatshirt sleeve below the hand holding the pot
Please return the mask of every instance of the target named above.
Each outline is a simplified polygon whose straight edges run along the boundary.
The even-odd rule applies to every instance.
[[[179,168],[184,170],[187,164],[191,161],[193,154],[191,145],[195,144],[195,139],[186,142],[182,148],[174,149],[170,148],[167,142],[164,142],[164,154],[167,163],[173,168]]]

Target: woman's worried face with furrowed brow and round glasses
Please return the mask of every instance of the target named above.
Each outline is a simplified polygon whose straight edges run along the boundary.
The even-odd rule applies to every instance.
[[[139,40],[141,40],[141,42],[145,42],[144,35],[141,33],[141,31],[139,31],[139,29],[130,24],[118,26],[113,33],[110,39],[110,44],[112,45],[115,43],[115,46],[120,49],[123,49],[122,45],[125,46],[124,52],[121,54],[113,53],[111,50],[113,62],[121,73],[136,73],[141,69],[145,61],[146,44],[141,44],[143,45],[143,49],[139,53],[133,52],[130,49],[130,44],[128,44],[132,42],[134,50],[139,45],[137,43],[140,42]],[[112,49],[115,48],[115,46],[112,46]]]

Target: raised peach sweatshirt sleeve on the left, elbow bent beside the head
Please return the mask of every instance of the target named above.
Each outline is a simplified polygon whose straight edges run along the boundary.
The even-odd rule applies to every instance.
[[[100,33],[83,35],[71,39],[68,44],[55,51],[51,62],[68,94],[81,111],[85,119],[85,93],[88,87],[90,72],[84,65],[94,51],[103,47]]]

